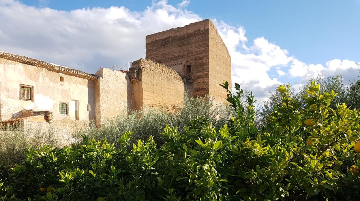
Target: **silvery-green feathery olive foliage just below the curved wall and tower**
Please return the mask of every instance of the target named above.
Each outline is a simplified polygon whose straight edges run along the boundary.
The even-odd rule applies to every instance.
[[[183,132],[185,125],[201,117],[211,121],[215,127],[222,127],[232,113],[233,110],[228,105],[222,103],[214,105],[209,96],[197,98],[185,96],[184,104],[177,105],[172,113],[152,108],[140,112],[124,111],[116,118],[105,122],[100,128],[92,124],[87,129],[75,132],[74,137],[81,141],[82,136],[86,134],[95,140],[106,139],[117,147],[117,141],[123,133],[131,131],[131,144],[139,139],[146,141],[149,136],[153,136],[155,142],[162,145],[164,141],[161,133],[165,125],[177,127],[179,132]]]

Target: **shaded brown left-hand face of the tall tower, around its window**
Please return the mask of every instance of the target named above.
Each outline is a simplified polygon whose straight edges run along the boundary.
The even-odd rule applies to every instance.
[[[146,36],[146,58],[184,76],[193,96],[209,93],[209,22],[206,19]],[[185,75],[186,61],[191,63],[190,77]]]

